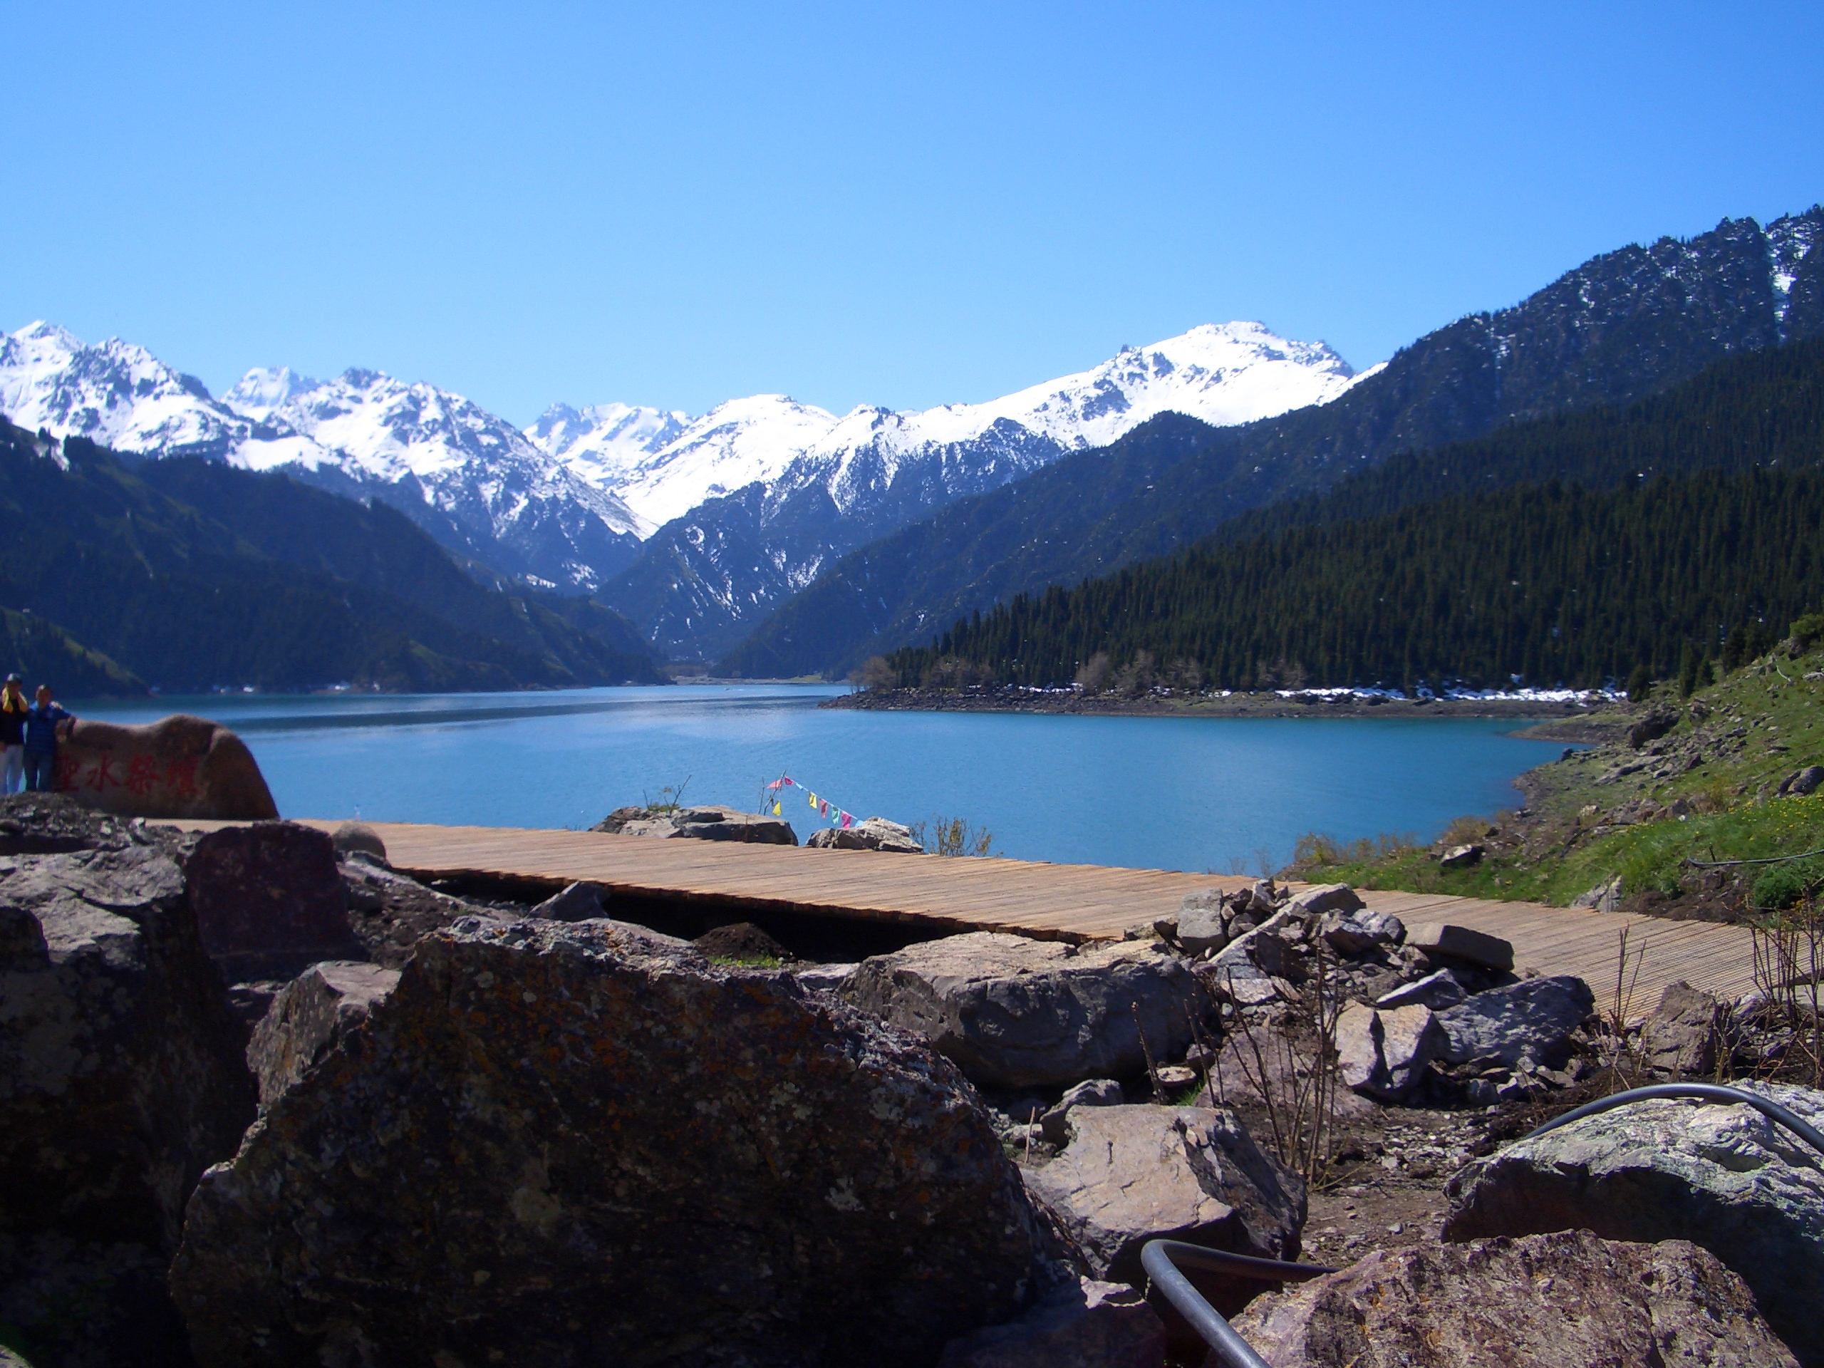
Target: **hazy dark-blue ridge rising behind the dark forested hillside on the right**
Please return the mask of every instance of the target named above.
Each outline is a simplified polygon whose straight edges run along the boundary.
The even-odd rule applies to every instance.
[[[1611,252],[1512,308],[1403,348],[1328,405],[1195,430],[1160,418],[1107,451],[959,500],[828,565],[722,664],[841,673],[972,609],[1164,554],[1364,463],[1592,403],[1824,332],[1824,208]]]

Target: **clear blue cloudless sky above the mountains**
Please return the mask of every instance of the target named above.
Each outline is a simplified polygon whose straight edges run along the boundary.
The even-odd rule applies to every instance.
[[[1262,13],[1266,11],[1266,13]],[[1824,5],[13,4],[0,326],[702,410],[1355,365],[1824,199]]]

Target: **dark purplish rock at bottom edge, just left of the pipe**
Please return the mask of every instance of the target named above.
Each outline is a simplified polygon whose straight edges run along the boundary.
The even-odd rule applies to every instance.
[[[952,1339],[938,1368],[1162,1368],[1164,1363],[1166,1326],[1144,1295],[1125,1282],[1071,1277],[1018,1321]]]

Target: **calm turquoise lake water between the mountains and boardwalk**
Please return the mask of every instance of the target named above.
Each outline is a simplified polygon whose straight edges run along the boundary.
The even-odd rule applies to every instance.
[[[589,826],[684,784],[757,810],[792,775],[857,817],[967,817],[996,852],[1195,872],[1284,865],[1304,832],[1432,839],[1514,806],[1560,746],[1512,720],[1149,719],[834,711],[841,688],[215,695],[71,704],[142,722],[195,711],[254,748],[292,817]],[[782,792],[799,837],[819,823]]]

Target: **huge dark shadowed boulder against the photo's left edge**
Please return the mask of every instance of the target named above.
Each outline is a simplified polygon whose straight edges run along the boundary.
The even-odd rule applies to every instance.
[[[244,1042],[166,850],[0,859],[0,1324],[42,1363],[182,1363],[164,1270]]]

